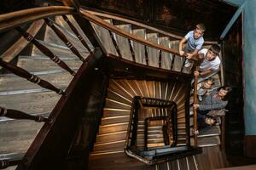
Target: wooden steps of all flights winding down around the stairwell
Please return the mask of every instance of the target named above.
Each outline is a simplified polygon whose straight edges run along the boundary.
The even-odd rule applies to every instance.
[[[148,42],[157,45],[162,45],[166,48],[177,50],[179,40],[174,37],[167,37],[166,34],[159,31],[148,31],[145,27],[134,26],[131,23],[116,22],[113,19],[105,21],[112,26],[124,30],[131,35],[143,38]],[[79,30],[79,33],[84,37],[84,40],[89,44],[90,49],[93,49],[88,38],[79,28],[78,23],[73,20],[72,16],[68,16],[73,25]],[[65,34],[67,39],[79,49],[84,59],[90,54],[88,49],[70,30],[67,23],[61,16],[55,17],[55,26]],[[107,57],[115,55],[116,59],[126,59],[140,66],[157,68],[164,71],[172,71],[177,76],[189,75],[191,68],[185,68],[184,59],[177,54],[170,54],[166,51],[161,51],[157,48],[148,47],[133,41],[126,37],[119,36],[117,33],[108,31],[106,28],[97,26],[91,22],[93,28],[99,37],[104,50],[107,52]],[[39,40],[45,47],[49,48],[54,54],[73,70],[77,71],[82,65],[79,58],[67,48],[54,31],[46,26],[44,39]],[[41,53],[38,48],[33,46],[32,54],[20,55],[17,65],[31,71],[38,77],[41,77],[48,82],[51,82],[57,88],[65,90],[73,79],[67,71],[61,69],[58,65],[52,62],[48,57]],[[54,109],[56,103],[60,99],[59,94],[49,91],[48,89],[40,88],[32,82],[16,77],[14,74],[0,75],[0,100],[1,106],[6,108],[24,111],[31,115],[49,116],[49,113]],[[143,96],[154,99],[165,99],[174,101],[177,104],[177,145],[183,146],[191,143],[193,145],[193,133],[185,130],[186,123],[193,126],[193,115],[190,114],[190,121],[186,122],[186,100],[189,99],[190,84],[175,80],[175,77],[165,81],[155,81],[145,78],[117,78],[111,77],[108,84],[108,93],[105,99],[105,107],[102,112],[101,124],[98,127],[98,132],[95,139],[93,150],[90,153],[89,169],[204,169],[200,164],[210,164],[211,168],[224,167],[226,164],[223,161],[224,156],[220,156],[218,161],[212,161],[211,158],[204,156],[212,156],[212,150],[216,155],[221,153],[218,145],[220,144],[220,129],[218,126],[211,130],[200,133],[199,146],[212,146],[203,149],[205,152],[200,156],[185,156],[175,161],[166,161],[155,166],[145,166],[142,162],[137,161],[125,155],[125,139],[127,128],[130,120],[131,103],[135,96]],[[189,111],[188,111],[189,112]],[[145,113],[148,116],[163,116],[165,111],[161,109],[151,109]],[[145,118],[145,117],[143,117]],[[143,119],[138,122],[138,138],[137,144],[143,146]],[[32,144],[32,140],[42,127],[43,123],[31,121],[16,121],[9,118],[0,118],[0,156],[9,158],[22,156]],[[148,131],[148,139],[152,144],[163,144],[162,136],[160,135],[160,127],[153,126]],[[12,137],[15,136],[15,139]],[[191,140],[186,136],[190,136]],[[205,154],[205,155],[204,155]],[[100,163],[99,163],[100,162]],[[216,162],[218,162],[216,164]],[[210,168],[209,168],[210,169]]]

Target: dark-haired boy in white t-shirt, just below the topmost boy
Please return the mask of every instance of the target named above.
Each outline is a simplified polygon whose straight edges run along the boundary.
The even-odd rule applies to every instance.
[[[206,77],[213,71],[219,71],[220,59],[218,53],[220,48],[217,44],[213,44],[211,48],[203,48],[198,52],[199,59],[202,59],[201,65],[199,66],[199,71],[195,71],[194,75],[200,77]],[[192,56],[194,57],[194,56]],[[191,58],[192,58],[191,57]]]

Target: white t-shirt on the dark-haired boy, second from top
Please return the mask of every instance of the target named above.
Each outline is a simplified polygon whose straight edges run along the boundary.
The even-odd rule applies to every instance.
[[[215,57],[215,59],[209,61],[206,59],[207,51],[208,51],[207,48],[203,48],[198,52],[198,54],[204,54],[204,59],[203,59],[201,65],[199,66],[199,70],[207,71],[209,69],[212,69],[213,71],[218,71],[219,65],[220,65],[220,59],[219,59],[218,55]]]

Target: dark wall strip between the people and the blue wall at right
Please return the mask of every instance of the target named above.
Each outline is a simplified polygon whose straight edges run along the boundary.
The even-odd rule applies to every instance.
[[[242,76],[242,37],[241,16],[224,39],[224,84],[233,87],[226,114],[226,151],[231,165],[234,156],[243,156],[244,117],[243,117],[243,76]]]

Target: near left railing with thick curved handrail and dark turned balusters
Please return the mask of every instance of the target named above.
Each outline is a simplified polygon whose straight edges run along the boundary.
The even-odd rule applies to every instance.
[[[48,56],[50,59],[52,59],[57,65],[60,65],[63,69],[70,72],[73,76],[76,74],[72,69],[70,69],[67,64],[65,64],[61,59],[59,59],[49,48],[41,44],[33,35],[37,34],[38,31],[42,28],[44,25],[44,21],[41,19],[45,19],[47,22],[48,17],[55,16],[55,15],[62,15],[64,19],[67,21],[67,17],[65,14],[75,14],[74,8],[71,7],[63,7],[63,6],[52,6],[52,7],[41,7],[41,8],[30,8],[26,10],[20,10],[16,12],[12,12],[9,14],[1,14],[0,15],[0,32],[3,31],[9,31],[12,29],[16,29],[16,31],[19,31],[20,34],[25,37],[20,38],[13,46],[11,46],[9,49],[6,50],[6,52],[2,55],[2,58],[0,59],[0,67],[3,67],[3,69],[6,69],[8,71],[13,72],[18,77],[22,77],[27,79],[30,82],[34,82],[38,84],[39,86],[43,88],[47,88],[51,91],[55,91],[57,94],[64,94],[63,98],[66,98],[68,90],[65,92],[61,88],[56,88],[51,83],[44,81],[43,79],[39,78],[38,76],[30,73],[29,71],[26,71],[19,66],[13,65],[10,63],[11,60],[15,59],[15,57],[20,54],[20,52],[26,48],[26,46],[32,42],[43,54]],[[32,25],[29,27],[27,31],[23,30],[20,26],[23,24],[28,24],[32,22]],[[49,23],[48,22],[48,23]],[[49,23],[53,24],[53,23]],[[89,48],[89,46],[84,41],[84,38],[79,35],[79,32],[75,30],[75,27],[72,25],[72,23],[69,21],[68,25],[72,27],[75,35],[78,37],[78,39],[86,46],[85,48]],[[53,25],[50,25],[54,27]],[[88,59],[84,60],[84,58],[79,54],[79,51],[73,47],[73,45],[68,42],[67,38],[65,39],[65,35],[61,33],[60,30],[57,30],[56,27],[54,27],[55,32],[59,37],[61,37],[62,41],[65,42],[70,48],[71,51],[73,51],[74,54],[76,54],[79,59],[83,60],[84,62],[87,62]],[[94,55],[96,52],[88,50],[90,55]],[[85,64],[86,65],[86,64]],[[50,114],[51,115],[51,114]],[[9,117],[11,119],[27,119],[27,120],[34,120],[36,122],[45,122],[46,126],[49,126],[53,121],[53,117],[50,116],[48,118],[45,118],[43,116],[33,116],[30,114],[26,114],[23,111],[17,111],[12,109],[6,109],[0,106],[0,116]],[[24,160],[21,160],[21,157],[15,158],[14,160],[12,158],[9,159],[3,159],[0,160],[0,168],[6,168],[9,166],[14,166],[19,163],[26,163]]]

